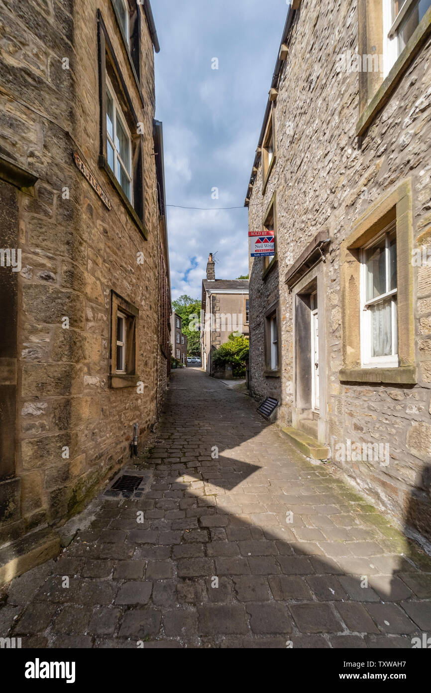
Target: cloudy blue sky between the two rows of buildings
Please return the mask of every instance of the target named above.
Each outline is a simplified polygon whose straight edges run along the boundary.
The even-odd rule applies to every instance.
[[[209,252],[217,279],[248,274],[242,206],[287,8],[286,0],[152,0],[167,204],[240,207],[168,208],[173,299],[201,297]]]

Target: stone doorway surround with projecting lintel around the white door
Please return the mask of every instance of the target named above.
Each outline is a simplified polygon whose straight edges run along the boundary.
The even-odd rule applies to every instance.
[[[293,407],[292,426],[320,444],[329,441],[328,382],[329,324],[327,321],[326,263],[324,250],[329,234],[320,231],[286,272],[292,293],[293,322]],[[311,392],[311,295],[318,296],[319,412],[313,411]]]

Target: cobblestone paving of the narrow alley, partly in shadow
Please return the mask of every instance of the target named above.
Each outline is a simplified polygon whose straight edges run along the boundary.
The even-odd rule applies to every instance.
[[[22,647],[410,648],[431,633],[428,556],[255,409],[198,369],[174,371],[143,464],[149,490],[102,495],[57,561],[13,581],[0,635]]]

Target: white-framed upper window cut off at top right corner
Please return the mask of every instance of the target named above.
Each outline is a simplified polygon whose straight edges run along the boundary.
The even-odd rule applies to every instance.
[[[431,7],[431,0],[382,0],[384,76],[401,55],[414,31]]]

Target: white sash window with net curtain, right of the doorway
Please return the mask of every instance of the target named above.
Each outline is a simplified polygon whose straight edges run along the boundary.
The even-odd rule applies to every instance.
[[[398,366],[396,223],[361,250],[361,360],[367,367]]]

